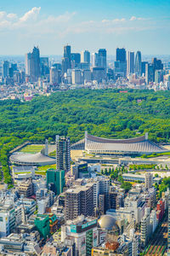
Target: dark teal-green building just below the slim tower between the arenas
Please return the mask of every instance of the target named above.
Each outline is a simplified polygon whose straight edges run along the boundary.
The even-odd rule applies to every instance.
[[[55,195],[63,192],[65,186],[65,171],[48,169],[46,173],[47,187],[52,190]]]

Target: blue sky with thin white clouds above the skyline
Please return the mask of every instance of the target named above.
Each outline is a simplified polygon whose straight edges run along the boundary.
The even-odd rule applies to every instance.
[[[116,47],[170,55],[170,0],[0,0],[0,55]]]

